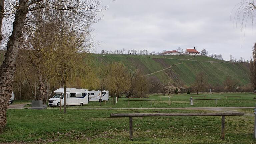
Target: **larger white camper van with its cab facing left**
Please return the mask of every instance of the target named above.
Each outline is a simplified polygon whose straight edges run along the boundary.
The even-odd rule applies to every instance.
[[[84,105],[88,104],[88,90],[87,89],[76,89],[76,88],[66,88],[66,105]],[[60,106],[64,105],[64,88],[59,88],[54,91],[54,96],[49,99],[49,106]]]

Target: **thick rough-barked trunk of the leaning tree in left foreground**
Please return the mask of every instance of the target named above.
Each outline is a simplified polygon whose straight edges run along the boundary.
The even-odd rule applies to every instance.
[[[19,0],[19,6],[14,16],[15,20],[13,22],[12,34],[7,42],[7,51],[4,55],[5,60],[0,67],[0,131],[3,130],[6,125],[6,110],[12,93],[19,40],[28,12],[27,3],[27,0]]]

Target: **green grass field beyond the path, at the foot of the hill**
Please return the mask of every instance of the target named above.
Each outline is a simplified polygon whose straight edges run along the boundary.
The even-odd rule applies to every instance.
[[[195,95],[195,94],[191,94]],[[156,107],[242,107],[242,106],[255,106],[256,97],[255,94],[251,93],[225,93],[225,94],[199,94],[198,96],[206,96],[206,98],[221,98],[221,100],[217,100],[217,105],[215,104],[215,100],[198,100],[195,101],[195,105],[190,105],[190,97],[191,95],[187,94],[178,94],[174,95],[171,98],[171,105],[169,106],[168,97],[161,98],[159,96],[162,95],[149,95],[149,98],[144,99],[155,99],[156,101],[152,101],[152,106],[150,106],[150,101],[131,101],[129,106],[127,98],[119,98],[116,105],[107,104],[99,106],[99,102],[89,102],[89,104],[83,106],[68,106],[67,108],[156,108]],[[226,99],[225,96],[241,96],[241,97],[228,97]],[[194,97],[202,98],[202,97]],[[54,107],[53,107],[54,108]]]

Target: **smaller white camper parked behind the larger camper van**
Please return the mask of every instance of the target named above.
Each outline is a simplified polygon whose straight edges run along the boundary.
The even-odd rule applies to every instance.
[[[109,99],[109,92],[108,91],[102,91],[102,96],[100,99],[100,90],[97,91],[88,91],[88,99],[89,101],[108,101]]]

